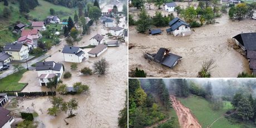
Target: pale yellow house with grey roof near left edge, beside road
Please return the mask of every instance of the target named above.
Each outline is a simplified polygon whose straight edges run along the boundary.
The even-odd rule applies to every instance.
[[[28,46],[23,45],[22,43],[9,43],[4,46],[3,50],[12,56],[12,60],[21,61],[25,60],[28,57]]]

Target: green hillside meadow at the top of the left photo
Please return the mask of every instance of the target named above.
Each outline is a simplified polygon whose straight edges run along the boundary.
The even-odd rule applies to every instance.
[[[58,17],[61,19],[67,19],[69,16],[73,17],[73,13],[75,9],[67,8],[63,6],[57,6],[50,2],[46,2],[43,0],[38,0],[40,6],[37,6],[35,9],[30,11],[28,14],[33,18],[37,18],[38,20],[44,20],[47,16],[50,15],[50,8],[53,8],[57,13]]]

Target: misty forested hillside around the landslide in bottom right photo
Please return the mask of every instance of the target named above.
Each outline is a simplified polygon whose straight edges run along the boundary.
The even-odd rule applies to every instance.
[[[201,102],[201,105],[197,107],[205,104],[204,107],[210,108],[211,115],[219,114],[224,117],[219,121],[220,124],[225,122],[233,127],[255,127],[255,82],[250,79],[129,79],[129,125],[130,127],[144,127],[169,119],[170,116],[174,116],[170,119],[175,119],[175,114],[168,115],[166,113],[172,111],[169,95],[174,95],[186,107],[191,107],[191,111],[193,111],[195,102]],[[154,119],[151,116],[154,115],[156,105],[159,111],[155,111],[158,114]],[[207,108],[196,109],[205,110]],[[206,111],[202,111],[200,114],[195,112],[200,124],[203,127],[209,126],[204,122],[205,117],[201,119],[198,116],[202,114],[206,115]],[[161,115],[165,116],[161,118]],[[208,118],[210,120],[210,117]],[[210,121],[214,121],[216,117],[212,118],[213,120]],[[169,127],[175,127],[178,124],[176,120]],[[217,127],[218,121],[215,124]]]

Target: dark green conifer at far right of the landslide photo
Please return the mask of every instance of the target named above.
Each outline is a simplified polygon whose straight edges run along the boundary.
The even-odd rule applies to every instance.
[[[246,97],[243,97],[239,100],[237,115],[243,120],[252,119],[252,117],[254,116],[253,107],[250,105],[250,101]]]

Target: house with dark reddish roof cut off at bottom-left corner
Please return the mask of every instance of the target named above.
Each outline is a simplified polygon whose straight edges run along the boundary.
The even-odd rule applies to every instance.
[[[11,128],[11,124],[14,122],[14,117],[9,114],[11,111],[0,107],[0,127]]]

